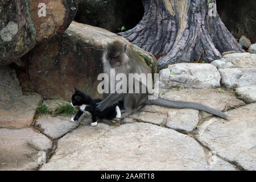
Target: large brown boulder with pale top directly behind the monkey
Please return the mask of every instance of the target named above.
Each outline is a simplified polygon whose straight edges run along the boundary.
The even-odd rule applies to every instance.
[[[113,40],[126,42],[134,56],[139,57],[139,49],[156,72],[156,59],[150,53],[102,28],[72,22],[63,35],[38,44],[29,53],[29,76],[34,90],[47,98],[70,101],[76,86],[92,97],[101,97],[97,76],[102,72],[102,52]]]

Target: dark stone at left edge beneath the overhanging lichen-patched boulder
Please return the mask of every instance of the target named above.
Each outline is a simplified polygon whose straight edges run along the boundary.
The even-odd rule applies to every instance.
[[[0,101],[9,100],[15,96],[22,96],[22,88],[13,69],[0,68]]]

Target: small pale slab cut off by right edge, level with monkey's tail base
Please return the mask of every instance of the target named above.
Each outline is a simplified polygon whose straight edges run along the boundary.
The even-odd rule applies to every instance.
[[[254,103],[256,102],[256,85],[241,86],[236,89],[236,94],[243,102]]]

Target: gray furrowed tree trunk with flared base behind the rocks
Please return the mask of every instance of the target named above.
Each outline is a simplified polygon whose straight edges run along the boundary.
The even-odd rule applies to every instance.
[[[121,32],[131,43],[153,55],[167,53],[158,60],[158,69],[168,64],[202,58],[211,62],[225,51],[244,52],[220,16],[210,16],[216,0],[142,0],[144,16],[131,30]],[[217,10],[216,10],[217,11]]]

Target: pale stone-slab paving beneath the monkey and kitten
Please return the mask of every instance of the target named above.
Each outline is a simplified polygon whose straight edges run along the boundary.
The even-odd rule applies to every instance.
[[[230,55],[239,59],[231,61]],[[61,115],[35,118],[34,108],[42,105],[42,97],[22,93],[15,73],[2,69],[0,74],[9,81],[0,81],[0,90],[14,91],[0,96],[0,170],[255,170],[255,80],[245,75],[245,84],[242,75],[221,76],[224,69],[250,68],[254,74],[255,60],[250,62],[247,53],[230,55],[212,64],[220,72],[212,69],[222,87],[210,88],[208,79],[198,78],[192,82],[202,88],[172,88],[168,79],[183,80],[185,85],[191,80],[182,76],[184,72],[163,71],[168,77],[163,76],[163,85],[168,88],[160,89],[160,97],[200,102],[226,112],[232,117],[229,121],[194,109],[154,105],[123,114],[115,123],[104,120],[96,127],[90,126],[88,113],[76,123]],[[242,59],[250,66],[241,64],[241,68]],[[232,79],[237,84],[232,85]],[[230,88],[223,86],[227,82]],[[50,101],[44,104],[57,107]]]

